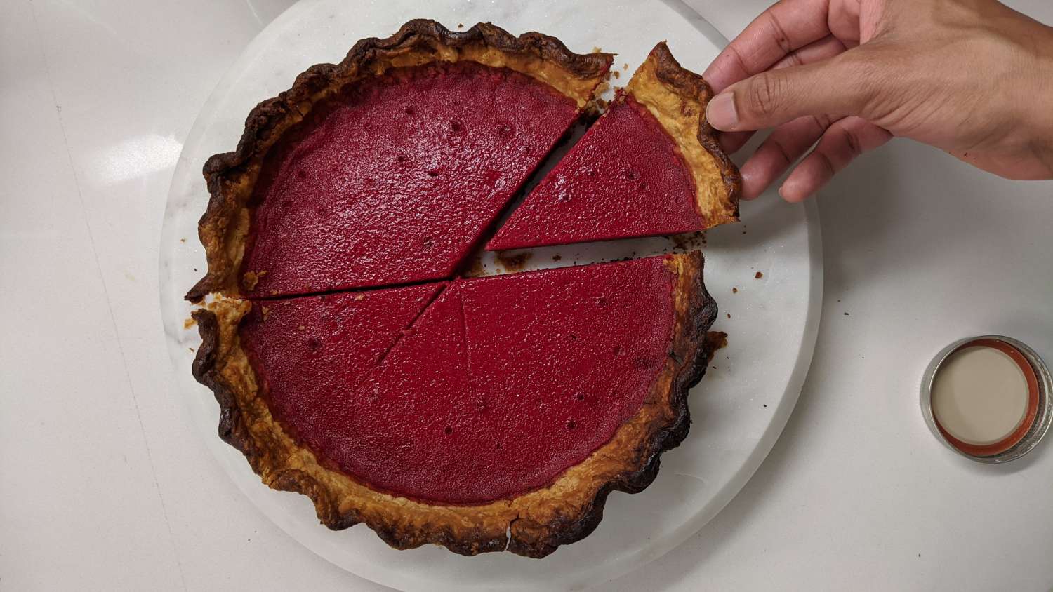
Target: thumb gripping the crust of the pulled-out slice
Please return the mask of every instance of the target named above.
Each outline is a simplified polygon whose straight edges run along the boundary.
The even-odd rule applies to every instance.
[[[879,85],[870,60],[851,49],[829,60],[760,73],[736,82],[710,100],[706,119],[722,131],[775,127],[798,117],[866,117]]]

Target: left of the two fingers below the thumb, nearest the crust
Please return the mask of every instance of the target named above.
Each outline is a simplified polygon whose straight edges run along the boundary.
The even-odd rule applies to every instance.
[[[826,117],[801,117],[775,128],[739,169],[742,199],[752,200],[797,161],[830,127]]]

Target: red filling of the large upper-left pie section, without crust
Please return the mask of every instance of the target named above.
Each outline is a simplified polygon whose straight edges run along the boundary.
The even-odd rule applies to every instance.
[[[577,117],[475,62],[395,68],[312,109],[256,185],[250,297],[449,277]]]

